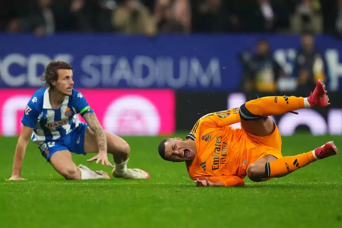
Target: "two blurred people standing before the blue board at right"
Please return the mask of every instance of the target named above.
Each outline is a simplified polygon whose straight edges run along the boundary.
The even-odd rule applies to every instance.
[[[296,50],[290,73],[276,59],[266,40],[259,40],[254,50],[241,53],[241,91],[275,92],[297,90],[300,94],[310,94],[318,79],[326,80],[326,61],[317,49],[310,33],[301,36],[301,46]]]

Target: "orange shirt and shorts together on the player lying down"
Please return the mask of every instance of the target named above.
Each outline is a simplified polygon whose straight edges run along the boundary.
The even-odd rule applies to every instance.
[[[250,164],[265,155],[282,157],[276,125],[272,134],[259,137],[229,126],[238,122],[239,108],[209,113],[197,121],[186,137],[193,139],[197,148],[195,159],[186,162],[192,179],[208,177],[225,186],[242,186]]]

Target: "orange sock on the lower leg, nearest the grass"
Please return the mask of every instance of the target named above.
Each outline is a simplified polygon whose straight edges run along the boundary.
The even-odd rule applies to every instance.
[[[282,177],[298,170],[300,167],[316,161],[313,152],[302,153],[291,157],[282,157],[271,162],[267,162],[265,166],[266,177]]]

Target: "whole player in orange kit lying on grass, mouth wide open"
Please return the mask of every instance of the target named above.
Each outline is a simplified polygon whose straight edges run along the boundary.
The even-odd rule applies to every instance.
[[[240,108],[210,113],[197,121],[185,142],[162,140],[159,155],[168,161],[185,161],[197,186],[243,186],[246,175],[254,182],[286,176],[338,151],[328,142],[307,153],[282,157],[280,133],[267,116],[325,107],[329,104],[326,93],[324,82],[318,80],[310,97],[262,97]],[[229,126],[238,122],[241,129]]]

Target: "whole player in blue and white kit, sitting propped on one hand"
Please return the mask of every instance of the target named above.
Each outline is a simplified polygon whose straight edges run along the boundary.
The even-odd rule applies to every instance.
[[[103,171],[76,166],[71,153],[86,155],[98,152],[88,161],[115,167],[114,177],[145,179],[149,174],[140,169],[127,169],[129,145],[120,137],[102,129],[86,98],[73,89],[72,67],[62,61],[49,63],[43,74],[46,88],[37,90],[25,108],[23,128],[15,149],[10,180],[23,180],[21,167],[31,138],[42,155],[66,179],[109,179]],[[99,98],[101,102],[101,98]],[[80,113],[86,123],[79,121]],[[107,157],[113,155],[113,166]]]

